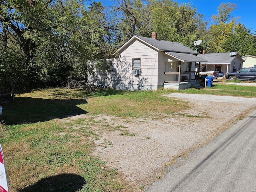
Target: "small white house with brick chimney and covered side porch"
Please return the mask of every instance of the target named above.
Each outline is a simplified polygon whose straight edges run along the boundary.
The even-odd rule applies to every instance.
[[[172,88],[171,84],[176,89],[190,88],[196,78],[196,62],[206,61],[197,54],[180,43],[158,40],[156,32],[152,38],[135,35],[90,81],[122,90],[157,90]]]

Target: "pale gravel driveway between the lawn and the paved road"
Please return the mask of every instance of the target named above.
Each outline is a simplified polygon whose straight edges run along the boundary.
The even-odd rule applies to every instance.
[[[94,156],[116,168],[131,184],[128,191],[140,191],[154,182],[181,154],[198,148],[226,130],[240,116],[256,108],[255,98],[172,93],[166,97],[188,101],[190,109],[163,118],[122,119],[98,116],[101,124],[93,127]],[[79,115],[70,118],[90,118]],[[119,127],[104,131],[103,125]],[[122,134],[125,130],[128,134]],[[141,188],[141,189],[140,189]]]

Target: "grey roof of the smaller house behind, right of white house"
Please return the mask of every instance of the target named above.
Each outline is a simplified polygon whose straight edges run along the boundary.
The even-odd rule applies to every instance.
[[[242,62],[244,60],[239,56],[238,52],[235,52],[233,56],[230,56],[231,52],[227,53],[206,53],[206,54],[199,54],[198,57],[207,60],[207,62],[202,62],[202,64],[231,64],[234,60],[234,57],[240,58]],[[232,52],[234,53],[234,52]]]

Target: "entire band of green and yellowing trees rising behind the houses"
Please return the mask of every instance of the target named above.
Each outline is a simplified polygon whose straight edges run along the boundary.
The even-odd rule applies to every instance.
[[[0,66],[17,88],[62,86],[87,80],[90,61],[111,56],[134,35],[180,42],[198,51],[256,55],[255,36],[233,18],[236,4],[222,3],[212,25],[191,4],[171,0],[0,0]],[[1,81],[2,82],[2,81]]]

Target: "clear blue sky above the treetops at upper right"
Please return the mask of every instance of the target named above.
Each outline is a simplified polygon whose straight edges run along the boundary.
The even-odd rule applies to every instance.
[[[179,3],[191,2],[196,7],[198,13],[204,15],[204,19],[209,22],[212,15],[218,14],[217,8],[221,3],[237,4],[238,9],[231,14],[239,17],[238,22],[244,24],[251,32],[256,31],[256,0],[176,0]]]

